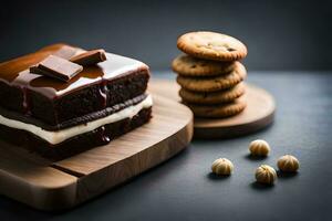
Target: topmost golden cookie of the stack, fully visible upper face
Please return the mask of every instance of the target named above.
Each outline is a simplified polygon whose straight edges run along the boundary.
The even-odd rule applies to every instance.
[[[195,57],[216,61],[238,61],[247,55],[239,40],[216,32],[189,32],[177,40],[177,48]]]

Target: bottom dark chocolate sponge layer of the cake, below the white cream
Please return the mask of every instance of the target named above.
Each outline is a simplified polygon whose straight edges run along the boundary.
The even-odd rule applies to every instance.
[[[116,123],[104,125],[92,131],[72,137],[59,145],[51,145],[29,131],[3,125],[0,125],[0,139],[37,152],[44,158],[60,160],[95,146],[106,145],[112,139],[147,123],[151,116],[152,107],[144,108],[132,118],[125,118]]]

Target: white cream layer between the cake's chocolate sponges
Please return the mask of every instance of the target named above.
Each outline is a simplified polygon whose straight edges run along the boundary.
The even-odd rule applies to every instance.
[[[115,122],[120,122],[125,118],[132,118],[135,116],[141,109],[148,108],[153,105],[152,96],[148,95],[144,101],[141,103],[126,107],[117,113],[108,115],[106,117],[95,119],[93,122],[89,122],[86,124],[77,125],[74,127],[56,130],[56,131],[49,131],[44,130],[41,127],[38,127],[32,124],[25,124],[19,120],[10,119],[0,115],[0,124],[6,125],[8,127],[12,127],[15,129],[23,129],[34,134],[35,136],[46,140],[52,145],[60,144],[71,137],[92,131],[103,125],[112,124]]]

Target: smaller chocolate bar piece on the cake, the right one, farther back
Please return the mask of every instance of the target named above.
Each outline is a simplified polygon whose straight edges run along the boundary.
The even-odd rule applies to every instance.
[[[79,54],[70,60],[82,66],[97,64],[100,62],[106,61],[105,51],[102,49],[87,51],[85,53]]]

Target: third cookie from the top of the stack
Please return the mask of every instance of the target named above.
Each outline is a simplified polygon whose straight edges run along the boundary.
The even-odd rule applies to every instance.
[[[177,83],[185,90],[193,92],[217,92],[232,87],[243,81],[247,76],[247,71],[240,62],[235,63],[232,72],[226,75],[211,77],[188,77],[177,76]]]

